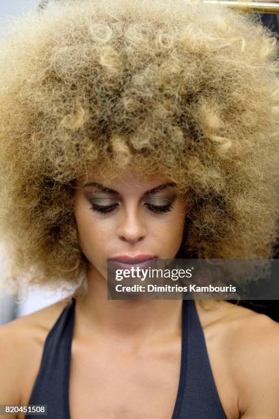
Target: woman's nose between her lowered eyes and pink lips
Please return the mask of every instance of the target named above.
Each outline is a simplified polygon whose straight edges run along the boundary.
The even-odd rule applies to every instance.
[[[139,215],[137,208],[123,212],[122,220],[120,220],[118,227],[120,240],[135,243],[144,239],[147,232],[146,225]]]

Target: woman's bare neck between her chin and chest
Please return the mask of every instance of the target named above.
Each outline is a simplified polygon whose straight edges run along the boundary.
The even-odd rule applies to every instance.
[[[182,300],[108,300],[107,281],[88,270],[88,290],[76,301],[77,333],[135,348],[181,335]]]

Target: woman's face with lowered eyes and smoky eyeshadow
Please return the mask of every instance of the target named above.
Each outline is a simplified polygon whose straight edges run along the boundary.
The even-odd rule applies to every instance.
[[[74,210],[89,268],[106,279],[107,259],[142,254],[174,259],[181,246],[186,204],[170,178],[92,176],[79,183]]]

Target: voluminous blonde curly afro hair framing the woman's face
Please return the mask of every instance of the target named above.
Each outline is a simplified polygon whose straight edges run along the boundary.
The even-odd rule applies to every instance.
[[[177,182],[184,257],[272,257],[276,41],[255,14],[183,0],[59,1],[12,26],[0,55],[9,280],[84,277],[72,198],[102,170]]]

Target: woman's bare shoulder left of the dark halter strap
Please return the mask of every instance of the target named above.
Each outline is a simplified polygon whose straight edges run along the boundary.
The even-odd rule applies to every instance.
[[[0,405],[24,404],[23,389],[30,391],[44,341],[67,302],[63,299],[0,327]]]

